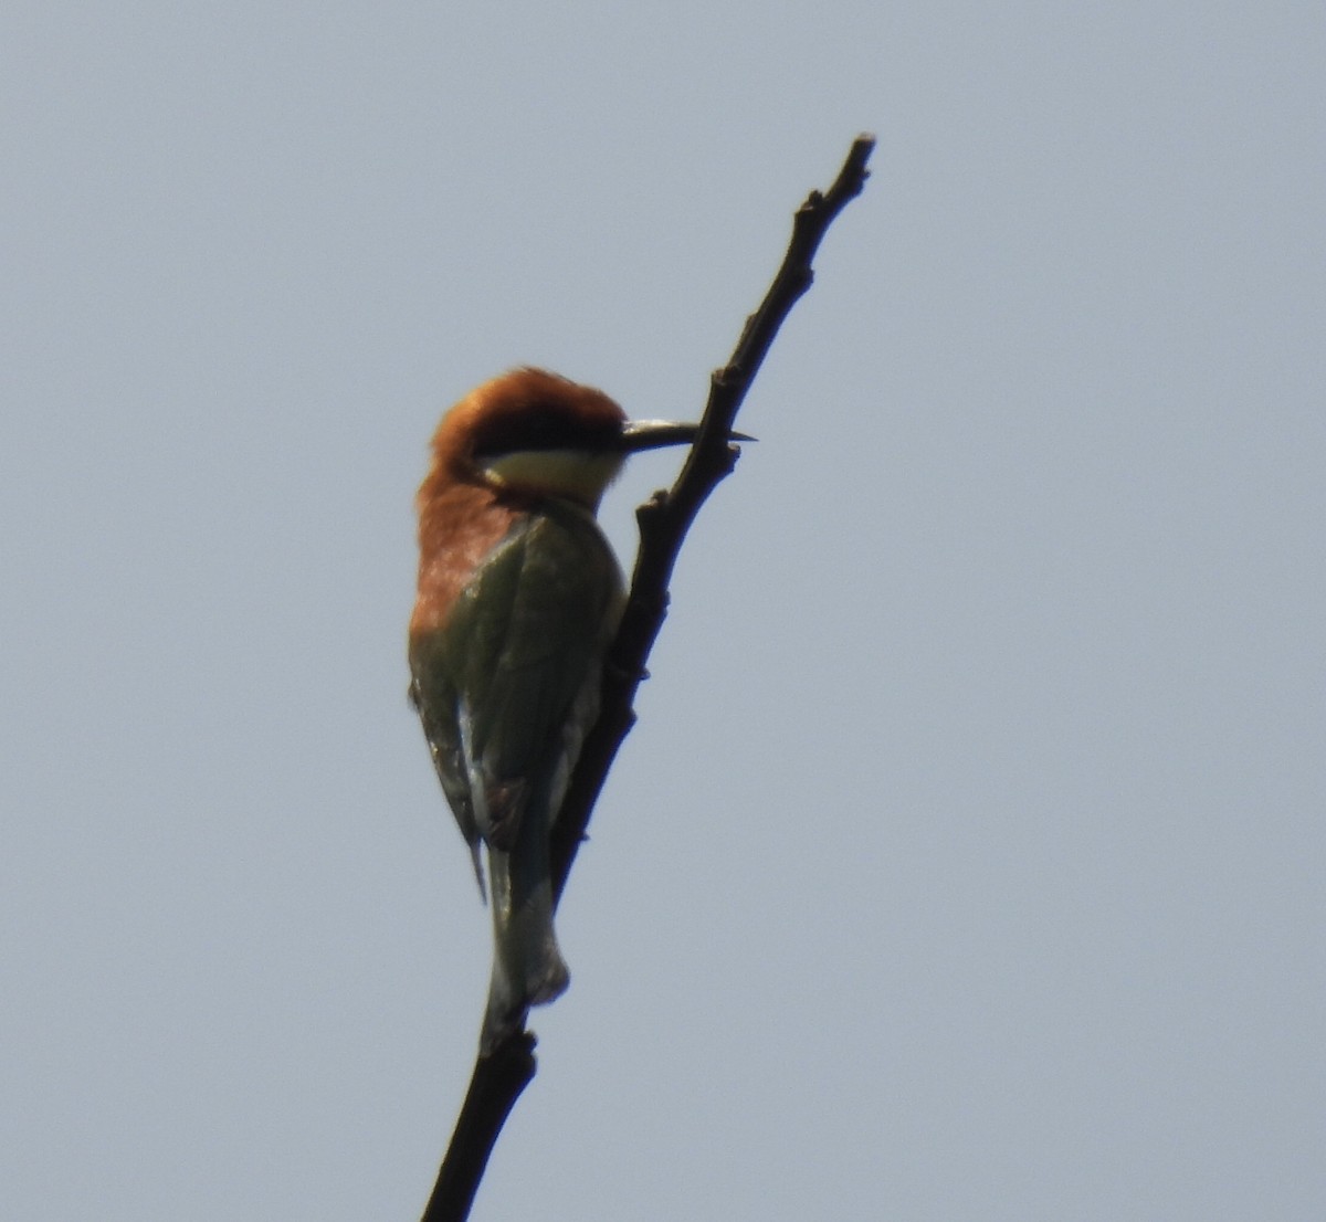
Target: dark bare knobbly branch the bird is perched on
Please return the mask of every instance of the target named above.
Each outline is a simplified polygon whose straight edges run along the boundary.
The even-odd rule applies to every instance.
[[[736,465],[739,451],[728,436],[737,410],[784,319],[814,280],[812,262],[829,225],[865,187],[870,174],[866,163],[874,147],[874,137],[858,137],[834,184],[823,194],[812,191],[797,209],[782,266],[760,307],[747,319],[732,358],[709,379],[700,435],[682,473],[671,490],[654,493],[635,513],[640,550],[622,624],[603,668],[601,712],[585,740],[553,828],[553,885],[558,899],[613,759],[635,724],[635,689],[644,679],[644,664],[667,615],[668,583],[686,533],[700,506]],[[521,1091],[533,1080],[533,1048],[534,1038],[517,1031],[476,1060],[422,1222],[463,1222],[469,1215],[497,1135]]]

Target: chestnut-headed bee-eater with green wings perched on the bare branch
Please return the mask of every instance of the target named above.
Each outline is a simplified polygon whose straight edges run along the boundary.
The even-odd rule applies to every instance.
[[[630,453],[697,432],[629,421],[602,391],[522,367],[472,390],[434,433],[415,498],[410,698],[481,896],[487,855],[493,962],[480,1055],[570,981],[549,840],[625,604],[599,500]]]

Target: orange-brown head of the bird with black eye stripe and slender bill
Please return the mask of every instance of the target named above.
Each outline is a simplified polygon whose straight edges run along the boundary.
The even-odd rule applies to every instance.
[[[693,441],[696,424],[629,421],[602,391],[518,368],[476,387],[443,417],[434,469],[463,484],[565,497],[597,509],[627,455]]]

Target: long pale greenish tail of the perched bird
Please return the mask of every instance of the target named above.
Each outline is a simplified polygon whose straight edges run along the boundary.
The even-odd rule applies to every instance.
[[[538,820],[526,822],[537,828]],[[541,839],[542,844],[533,852],[529,844],[516,846],[513,852],[488,851],[493,974],[479,1039],[479,1050],[485,1056],[503,1038],[524,1025],[530,1006],[553,1001],[570,983],[553,929],[546,832]]]

